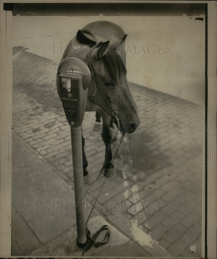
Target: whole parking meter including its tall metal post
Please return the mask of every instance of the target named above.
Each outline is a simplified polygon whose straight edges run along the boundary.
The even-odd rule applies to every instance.
[[[87,88],[91,73],[80,59],[64,59],[58,67],[57,91],[60,94],[66,118],[71,128],[74,193],[76,202],[77,243],[87,241],[85,225],[84,178],[82,163],[81,125],[87,104]]]

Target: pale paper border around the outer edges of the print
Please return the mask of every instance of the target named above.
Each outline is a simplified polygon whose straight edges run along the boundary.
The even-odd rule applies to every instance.
[[[0,3],[0,25],[1,25],[1,122],[12,122],[12,42],[10,42],[12,13],[4,10],[4,3],[9,4],[11,1],[1,1]],[[71,1],[63,1],[68,3]],[[103,1],[73,1],[79,3],[99,3]],[[126,1],[110,1],[126,2]],[[127,1],[134,3],[148,2],[158,3],[159,1]],[[161,3],[196,3],[196,1],[161,1]],[[16,1],[16,3],[59,3],[59,1]],[[206,100],[205,100],[205,127],[211,127],[211,131],[216,133],[216,1],[199,1],[206,3],[206,57],[205,57],[205,80],[206,80]],[[9,6],[9,5],[8,5]],[[10,9],[10,7],[9,7]],[[5,83],[6,82],[6,83]],[[10,132],[10,138],[12,133]],[[203,225],[202,225],[202,242],[204,241],[204,257],[215,258],[216,256],[216,165],[211,167],[207,164],[207,134],[203,143],[203,159],[205,171],[203,171]],[[1,151],[2,152],[2,151]],[[12,143],[10,142],[10,155],[12,155]],[[10,156],[11,157],[11,156]],[[1,211],[0,211],[0,251],[2,257],[14,257],[10,255],[11,249],[11,172],[3,171],[1,165]],[[213,206],[214,204],[214,206]],[[215,226],[215,227],[213,227]],[[207,230],[207,231],[206,231]],[[202,246],[203,251],[203,246]]]

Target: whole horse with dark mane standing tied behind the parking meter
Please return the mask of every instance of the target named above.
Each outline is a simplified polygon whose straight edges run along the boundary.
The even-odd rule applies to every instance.
[[[78,30],[66,47],[62,60],[76,57],[86,63],[91,71],[91,90],[88,92],[86,111],[96,111],[96,121],[102,118],[102,139],[106,145],[104,175],[108,176],[112,164],[110,126],[120,132],[133,133],[140,124],[140,116],[126,79],[127,35],[121,27],[109,21],[95,21]],[[57,92],[60,97],[59,78]],[[93,92],[94,94],[90,94]],[[87,176],[87,159],[82,135],[83,176]]]

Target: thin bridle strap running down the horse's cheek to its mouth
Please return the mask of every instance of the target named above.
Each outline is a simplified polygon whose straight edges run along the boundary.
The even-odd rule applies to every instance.
[[[117,126],[117,129],[119,130],[120,128],[120,122],[119,122],[119,119],[117,118],[117,112],[112,108],[110,102],[108,101],[107,99],[107,96],[105,95],[105,93],[103,92],[102,88],[100,87],[100,84],[95,76],[95,73],[94,73],[94,70],[93,70],[93,66],[92,66],[92,54],[94,52],[95,48],[93,49],[93,51],[91,53],[88,54],[88,65],[89,65],[89,68],[90,68],[90,71],[91,71],[91,78],[93,78],[94,80],[94,84],[97,85],[97,88],[99,89],[99,91],[101,92],[102,96],[104,97],[104,99],[106,100],[106,102],[108,103],[109,107],[110,107],[110,111],[111,112],[108,112],[106,111],[110,116],[111,118],[114,120],[116,126]]]

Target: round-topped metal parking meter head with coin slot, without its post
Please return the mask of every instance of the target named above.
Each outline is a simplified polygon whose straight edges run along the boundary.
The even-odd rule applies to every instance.
[[[76,57],[64,59],[58,67],[60,97],[69,124],[82,123],[91,82],[88,66]]]

